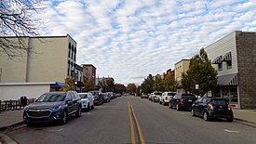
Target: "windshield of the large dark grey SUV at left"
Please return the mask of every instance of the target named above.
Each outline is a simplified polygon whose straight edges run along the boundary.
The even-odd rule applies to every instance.
[[[65,93],[61,94],[44,94],[37,98],[36,102],[58,102],[63,101],[66,98]]]

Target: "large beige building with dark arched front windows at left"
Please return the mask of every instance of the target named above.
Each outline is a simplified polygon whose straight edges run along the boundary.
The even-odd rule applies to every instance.
[[[18,42],[17,37],[0,38],[13,41],[13,44]],[[25,53],[19,59],[8,59],[7,55],[2,53],[0,83],[41,85],[41,83],[54,82],[51,87],[59,88],[64,84],[67,76],[75,78],[76,42],[70,35],[25,36],[21,39],[23,45],[31,47],[32,51]]]

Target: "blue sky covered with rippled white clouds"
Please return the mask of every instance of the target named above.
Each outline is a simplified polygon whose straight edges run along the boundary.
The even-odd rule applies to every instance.
[[[256,32],[256,0],[44,0],[41,35],[71,35],[77,64],[140,85],[234,31]]]

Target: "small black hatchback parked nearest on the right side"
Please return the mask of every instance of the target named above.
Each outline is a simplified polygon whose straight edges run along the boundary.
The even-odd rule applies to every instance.
[[[205,121],[213,118],[224,118],[232,122],[234,114],[226,98],[202,97],[195,100],[192,105],[191,114],[202,116]]]

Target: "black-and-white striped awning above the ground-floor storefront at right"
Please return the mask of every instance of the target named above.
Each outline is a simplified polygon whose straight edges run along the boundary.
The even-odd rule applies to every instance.
[[[219,76],[217,85],[238,85],[237,73]]]

